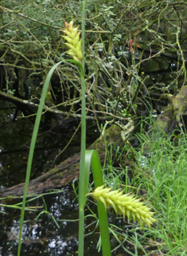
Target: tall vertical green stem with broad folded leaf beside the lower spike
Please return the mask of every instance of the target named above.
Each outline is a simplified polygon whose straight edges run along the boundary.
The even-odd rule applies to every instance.
[[[85,6],[86,0],[83,1],[82,9],[82,53],[84,56],[84,33],[85,33]],[[84,57],[82,60],[84,69]],[[90,173],[90,163],[92,160],[92,171],[94,175],[95,187],[103,185],[103,175],[99,162],[99,156],[96,152],[88,152],[85,161],[86,152],[86,100],[85,100],[85,80],[84,74],[81,75],[81,92],[82,92],[82,112],[81,112],[81,152],[80,152],[80,183],[79,183],[79,250],[78,256],[84,256],[84,204],[85,195],[88,192],[88,180]],[[89,160],[88,160],[89,159]],[[99,226],[102,241],[103,256],[111,256],[111,244],[108,231],[107,211],[103,203],[97,202]]]

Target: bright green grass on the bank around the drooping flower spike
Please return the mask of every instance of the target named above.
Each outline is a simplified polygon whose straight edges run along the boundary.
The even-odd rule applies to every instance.
[[[113,250],[125,250],[128,255],[186,255],[187,136],[182,133],[168,137],[155,129],[150,135],[137,134],[136,139],[138,148],[126,145],[122,152],[116,150],[119,159],[126,154],[133,166],[124,167],[123,162],[121,167],[112,167],[115,164],[109,161],[104,167],[105,183],[145,199],[158,222],[143,231],[136,223],[120,226],[111,222],[111,233],[117,242]]]

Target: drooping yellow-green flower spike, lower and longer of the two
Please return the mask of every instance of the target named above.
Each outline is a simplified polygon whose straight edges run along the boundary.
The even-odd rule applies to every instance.
[[[128,221],[134,219],[140,226],[150,227],[151,224],[156,222],[152,216],[153,212],[149,207],[143,205],[139,199],[135,199],[134,195],[123,195],[122,191],[111,191],[111,187],[104,188],[103,186],[95,188],[92,195],[95,200],[99,200],[105,207],[112,207],[116,214],[127,216]]]

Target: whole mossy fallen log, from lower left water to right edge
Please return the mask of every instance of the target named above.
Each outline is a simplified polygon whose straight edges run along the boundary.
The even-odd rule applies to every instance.
[[[168,97],[168,95],[166,95]],[[162,96],[163,98],[164,96]],[[152,128],[162,128],[164,132],[171,135],[173,129],[178,124],[182,127],[182,116],[186,115],[187,107],[187,86],[183,86],[181,91],[176,96],[169,96],[169,105],[165,111],[158,116]],[[151,131],[150,131],[151,132]],[[106,144],[113,143],[115,147],[122,146],[123,140],[121,138],[120,128],[113,124],[105,132]],[[95,142],[88,149],[95,149],[99,154],[101,164],[104,163],[105,158],[105,144],[103,137],[95,140]],[[60,188],[67,183],[71,183],[73,179],[77,179],[80,170],[80,153],[68,158],[63,163],[54,167],[47,173],[33,179],[29,182],[28,194],[44,193],[54,188]],[[23,195],[25,183],[20,183],[14,187],[6,188],[0,191],[0,197],[9,195]]]

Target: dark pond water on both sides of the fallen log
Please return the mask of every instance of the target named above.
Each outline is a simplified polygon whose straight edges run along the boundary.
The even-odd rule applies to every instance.
[[[14,104],[0,101],[0,187],[11,187],[25,181],[25,170],[29,154],[29,143],[33,132],[33,122],[29,118],[14,120]],[[78,120],[79,121],[79,120]],[[37,139],[33,159],[31,179],[49,171],[55,164],[80,152],[80,132],[76,140],[56,159],[75,132],[74,123],[68,129],[42,128]],[[90,124],[92,126],[92,124]],[[88,128],[88,144],[98,136]],[[89,133],[93,133],[89,136]],[[94,136],[93,136],[94,135]],[[55,161],[54,161],[55,160]],[[17,255],[20,210],[7,205],[21,203],[21,199],[0,199],[0,255]],[[27,205],[37,207],[37,211],[25,212],[22,234],[21,255],[76,255],[78,232],[78,203],[70,187],[62,187],[50,195],[43,195]],[[40,208],[41,207],[41,208]],[[87,219],[87,224],[92,223]],[[57,226],[56,225],[59,225]],[[92,225],[89,230],[92,230]],[[89,233],[90,231],[88,231]],[[96,250],[99,234],[85,238],[85,255],[99,255]],[[94,241],[95,239],[95,241]]]

